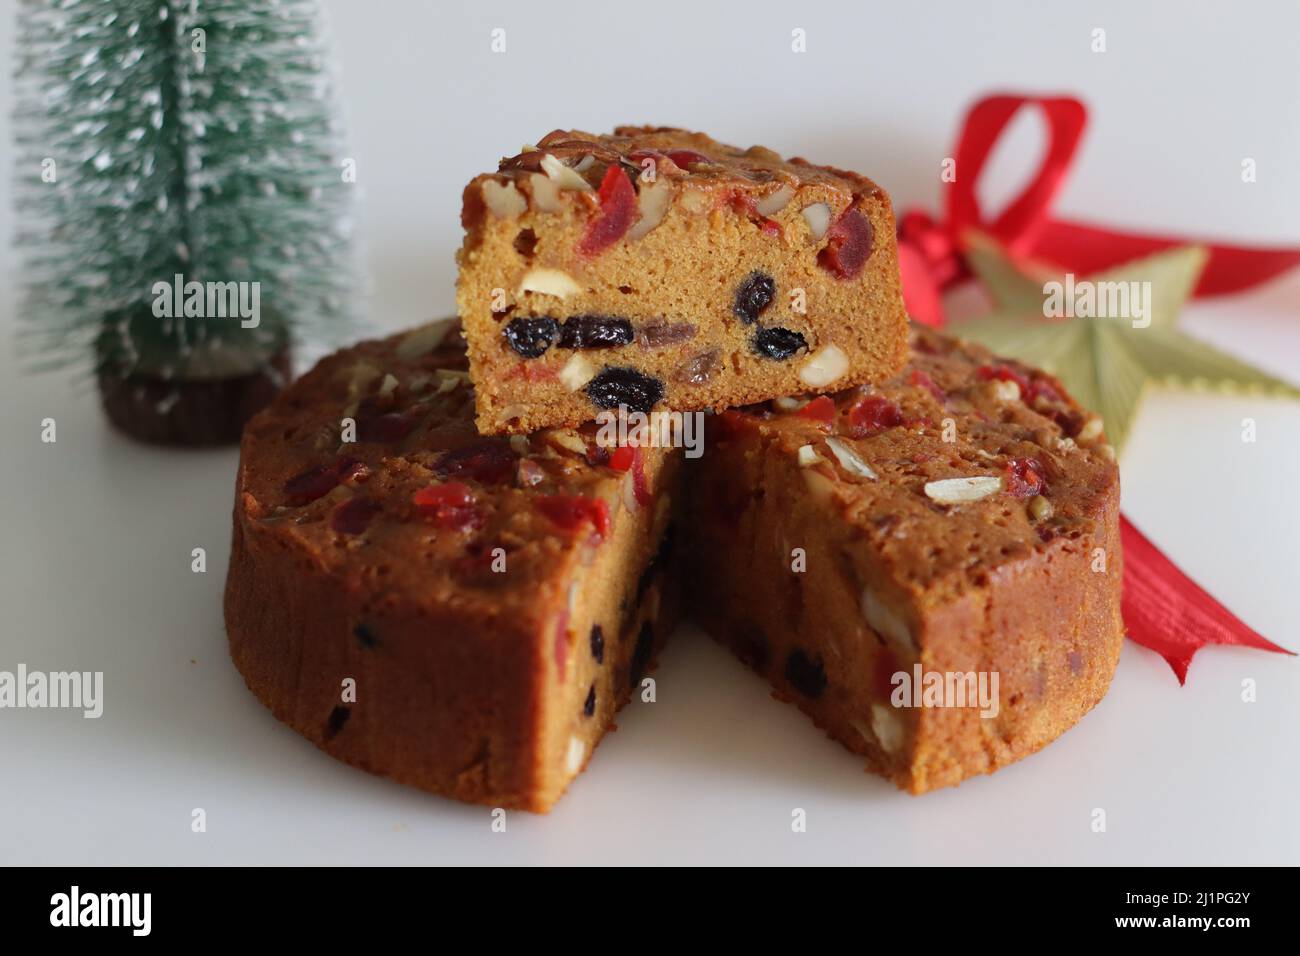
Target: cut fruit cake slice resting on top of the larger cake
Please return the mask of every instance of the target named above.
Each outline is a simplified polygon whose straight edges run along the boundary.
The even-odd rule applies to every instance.
[[[465,187],[478,429],[729,407],[905,362],[889,196],[699,133],[556,130]]]

